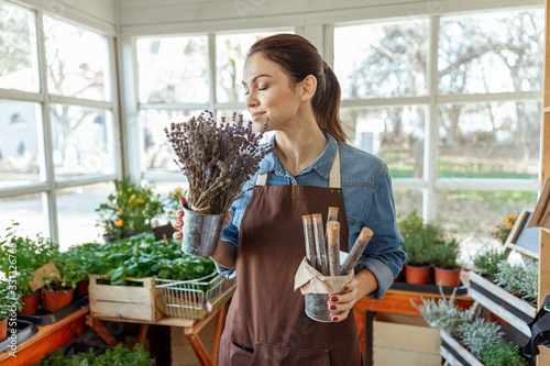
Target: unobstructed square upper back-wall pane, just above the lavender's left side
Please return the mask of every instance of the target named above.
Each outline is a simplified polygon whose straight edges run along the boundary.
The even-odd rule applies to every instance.
[[[206,36],[141,38],[136,48],[141,102],[208,101]]]

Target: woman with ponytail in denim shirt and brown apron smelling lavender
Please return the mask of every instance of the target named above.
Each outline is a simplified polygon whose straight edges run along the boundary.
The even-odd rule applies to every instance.
[[[304,37],[256,42],[243,76],[246,108],[258,130],[267,122],[275,131],[275,152],[231,207],[212,256],[220,273],[239,281],[220,365],[361,365],[353,304],[364,296],[381,299],[405,260],[387,166],[344,143],[340,86]],[[306,253],[301,215],[326,217],[329,207],[339,208],[342,249],[363,226],[374,236],[354,278],[330,296],[327,307],[340,313],[321,323],[305,314],[294,276]],[[180,219],[178,212],[177,230]]]

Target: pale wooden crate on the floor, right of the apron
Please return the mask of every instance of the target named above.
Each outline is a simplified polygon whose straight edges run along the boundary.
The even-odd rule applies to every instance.
[[[373,322],[373,364],[441,366],[439,330],[421,317],[376,314]]]

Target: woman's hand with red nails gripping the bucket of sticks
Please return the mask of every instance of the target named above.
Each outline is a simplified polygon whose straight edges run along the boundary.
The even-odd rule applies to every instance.
[[[341,293],[331,293],[329,297],[329,310],[334,313],[333,322],[341,322],[348,319],[355,302],[378,288],[376,277],[372,271],[363,269],[356,274],[351,281],[342,287]]]

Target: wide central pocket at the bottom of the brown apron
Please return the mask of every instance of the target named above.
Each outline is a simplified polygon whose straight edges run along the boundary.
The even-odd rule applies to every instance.
[[[290,348],[271,344],[256,344],[251,366],[330,366],[328,350]]]

